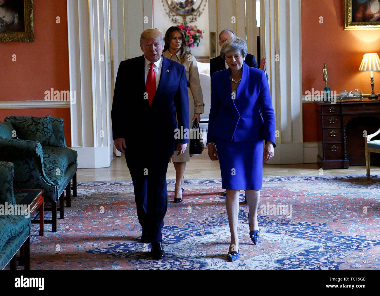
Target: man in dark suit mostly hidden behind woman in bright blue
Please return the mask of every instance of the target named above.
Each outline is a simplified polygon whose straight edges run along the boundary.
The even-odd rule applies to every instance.
[[[232,38],[232,37],[235,37],[235,33],[231,30],[225,29],[222,32],[220,32],[219,33],[219,46],[222,47],[223,43],[225,43],[225,41],[227,39]],[[266,67],[265,57],[263,57],[263,59],[261,59],[261,64],[260,64],[260,68],[259,68],[257,63],[256,63],[255,56],[252,54],[247,54],[244,62],[250,67],[258,68],[258,69],[263,70],[263,71],[265,70],[265,67]],[[218,55],[217,57],[214,57],[214,59],[211,59],[210,60],[211,81],[212,81],[212,74],[214,74],[217,71],[225,70],[226,67],[227,67],[226,62],[224,59],[222,59],[222,57],[220,55]],[[266,79],[268,79],[268,75],[266,75]]]

